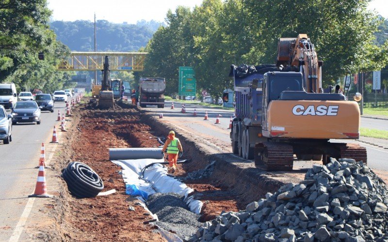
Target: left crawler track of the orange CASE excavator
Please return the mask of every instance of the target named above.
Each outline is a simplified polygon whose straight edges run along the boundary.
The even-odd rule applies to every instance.
[[[264,143],[262,162],[267,170],[292,170],[293,149],[291,145]]]

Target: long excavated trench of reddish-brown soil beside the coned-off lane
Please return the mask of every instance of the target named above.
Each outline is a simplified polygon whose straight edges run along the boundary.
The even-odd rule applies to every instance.
[[[106,110],[84,104],[74,113],[77,115],[72,118],[73,126],[54,163],[55,169],[60,174],[69,161],[80,161],[99,174],[104,191],[116,189],[117,192],[107,197],[76,199],[62,181],[61,199],[57,200],[62,240],[162,240],[155,227],[148,224],[153,219],[150,214],[137,206],[136,198],[125,194],[120,167],[109,161],[108,149],[158,147],[156,139],[150,137],[166,136],[174,127],[128,104],[115,104]],[[182,158],[191,162],[178,165],[174,175],[193,188],[194,198],[204,203],[200,222],[210,221],[222,211],[242,210],[249,202],[285,183],[268,179],[268,174],[257,169],[236,169],[230,161],[243,161],[232,154],[204,151],[198,140],[179,130],[176,132],[184,149]],[[130,211],[130,206],[135,211]]]

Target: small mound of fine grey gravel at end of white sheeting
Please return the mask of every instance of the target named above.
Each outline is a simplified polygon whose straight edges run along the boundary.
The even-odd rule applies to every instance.
[[[176,193],[155,193],[147,199],[149,211],[158,215],[159,221],[155,224],[176,233],[181,239],[194,234],[202,226],[198,222],[200,215],[190,212],[183,199],[184,196]]]

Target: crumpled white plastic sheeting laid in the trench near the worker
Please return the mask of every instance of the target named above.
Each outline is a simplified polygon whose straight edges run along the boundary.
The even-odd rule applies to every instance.
[[[203,203],[188,196],[194,192],[192,188],[186,186],[173,177],[167,176],[167,169],[161,164],[155,164],[144,171],[142,178],[142,169],[151,163],[163,162],[163,159],[138,159],[138,160],[113,160],[114,164],[122,167],[123,179],[126,184],[136,185],[140,190],[148,195],[154,193],[177,193],[185,196],[185,202],[191,212],[199,214]]]

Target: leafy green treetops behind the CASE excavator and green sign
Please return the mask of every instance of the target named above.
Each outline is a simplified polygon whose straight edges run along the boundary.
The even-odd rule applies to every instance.
[[[148,43],[146,73],[162,76],[167,93],[178,90],[178,67],[193,66],[197,91],[217,96],[230,83],[230,64],[275,63],[280,37],[307,33],[323,64],[323,86],[346,71],[383,68],[388,42],[374,34],[386,23],[367,10],[370,0],[204,0],[193,11],[167,13]]]

